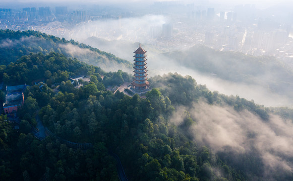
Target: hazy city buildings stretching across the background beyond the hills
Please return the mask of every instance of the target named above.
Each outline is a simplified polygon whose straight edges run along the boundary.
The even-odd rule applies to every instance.
[[[149,8],[149,9],[147,9]],[[67,39],[76,39],[83,33],[107,40],[126,39],[144,41],[158,48],[182,50],[196,44],[204,44],[220,51],[240,51],[254,56],[271,55],[284,61],[293,57],[293,41],[290,38],[293,14],[280,16],[261,13],[255,5],[209,7],[180,2],[156,2],[145,10],[128,12],[123,9],[88,8],[71,10],[68,7],[0,9],[0,28],[12,30],[37,30]],[[146,14],[165,17],[161,24],[139,27],[139,31],[123,24],[125,17],[141,17]],[[111,28],[104,24],[87,29],[86,23],[95,20],[118,20]],[[50,23],[55,22],[55,23]],[[50,23],[50,24],[49,24]],[[72,25],[80,25],[76,28]],[[89,26],[90,27],[90,26]],[[293,36],[293,35],[292,35]]]

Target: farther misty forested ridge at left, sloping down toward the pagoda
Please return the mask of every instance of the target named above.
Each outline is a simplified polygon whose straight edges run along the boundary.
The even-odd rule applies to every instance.
[[[0,30],[0,64],[8,65],[29,53],[47,54],[49,52],[62,53],[69,58],[76,57],[85,63],[99,66],[106,71],[122,69],[129,71],[132,65],[129,61],[118,58],[111,53],[97,48],[47,35],[37,31]]]

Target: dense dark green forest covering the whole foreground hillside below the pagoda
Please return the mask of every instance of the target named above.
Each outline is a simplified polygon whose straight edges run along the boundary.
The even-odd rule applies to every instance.
[[[29,85],[18,111],[19,129],[6,115],[0,116],[1,180],[119,180],[112,152],[119,155],[129,180],[293,179],[292,172],[281,165],[267,173],[271,167],[257,146],[239,152],[230,144],[216,150],[198,139],[200,130],[193,131],[204,120],[203,106],[198,105],[213,107],[209,115],[224,108],[237,117],[249,114],[248,119],[264,125],[271,124],[272,113],[291,119],[288,108],[265,108],[238,96],[211,92],[191,76],[177,73],[150,78],[151,91],[144,97],[113,94],[105,87],[129,82],[130,74],[105,72],[53,51],[29,53],[11,63],[6,60],[0,74],[5,84]],[[77,75],[90,81],[68,80]],[[50,136],[35,138],[31,128],[36,119],[58,138],[92,143],[93,148],[73,149]],[[240,121],[246,124],[245,119]],[[245,134],[253,145],[259,133]],[[287,152],[269,151],[293,163]]]

